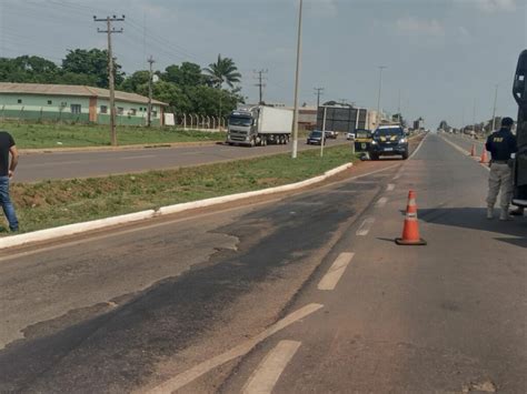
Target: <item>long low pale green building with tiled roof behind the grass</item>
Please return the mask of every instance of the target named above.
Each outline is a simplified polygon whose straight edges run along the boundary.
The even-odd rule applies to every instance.
[[[148,98],[116,91],[117,124],[147,124]],[[151,124],[163,124],[167,103],[152,100]],[[0,82],[0,119],[110,123],[108,89]]]

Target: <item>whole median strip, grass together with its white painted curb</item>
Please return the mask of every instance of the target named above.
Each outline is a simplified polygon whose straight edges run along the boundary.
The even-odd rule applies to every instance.
[[[13,184],[27,233],[0,239],[0,249],[305,188],[349,169],[355,160],[349,147],[327,149],[324,159],[317,153],[300,152],[295,161],[277,154],[137,175]]]

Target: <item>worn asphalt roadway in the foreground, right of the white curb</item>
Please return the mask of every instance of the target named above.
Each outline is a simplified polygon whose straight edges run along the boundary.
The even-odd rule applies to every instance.
[[[0,392],[526,393],[527,222],[485,219],[487,176],[429,134],[320,189],[4,252]],[[394,243],[410,189],[426,246]]]

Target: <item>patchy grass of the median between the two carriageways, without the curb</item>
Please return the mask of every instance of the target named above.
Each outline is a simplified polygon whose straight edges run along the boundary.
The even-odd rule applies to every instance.
[[[181,202],[252,191],[318,175],[356,158],[349,147],[135,175],[13,183],[20,231],[29,232]],[[6,230],[3,235],[6,235]]]

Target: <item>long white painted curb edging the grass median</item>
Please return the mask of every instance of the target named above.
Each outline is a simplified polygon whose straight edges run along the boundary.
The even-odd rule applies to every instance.
[[[41,241],[49,241],[53,239],[60,239],[67,235],[73,235],[73,234],[79,234],[87,231],[100,230],[100,229],[109,228],[112,225],[157,218],[159,215],[171,214],[171,213],[182,212],[187,210],[193,210],[197,208],[222,204],[226,202],[247,199],[247,198],[251,198],[256,195],[266,195],[266,194],[272,194],[272,193],[279,193],[279,192],[286,192],[286,191],[290,191],[295,189],[300,189],[300,188],[305,188],[305,186],[321,182],[328,179],[329,176],[332,176],[341,171],[345,171],[351,168],[352,165],[354,165],[352,163],[344,164],[336,169],[326,171],[324,175],[315,176],[315,178],[308,179],[306,181],[297,182],[297,183],[285,184],[282,186],[256,190],[256,191],[247,192],[247,193],[222,195],[222,196],[207,199],[207,200],[185,202],[181,204],[162,206],[156,211],[155,210],[141,211],[141,212],[136,212],[136,213],[129,213],[126,215],[93,220],[90,222],[74,223],[74,224],[62,225],[62,226],[53,228],[53,229],[33,231],[31,233],[26,233],[26,234],[6,236],[6,238],[0,239],[0,250],[6,249],[6,247],[20,246],[20,245],[31,243],[31,242],[41,242]]]

